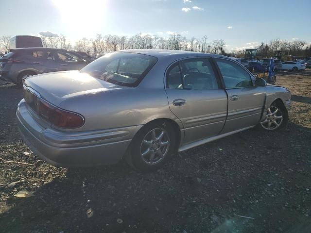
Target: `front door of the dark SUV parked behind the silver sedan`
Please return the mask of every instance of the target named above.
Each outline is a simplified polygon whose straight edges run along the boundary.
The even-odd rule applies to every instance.
[[[57,51],[57,55],[61,70],[80,70],[88,64],[85,59],[68,51]]]

